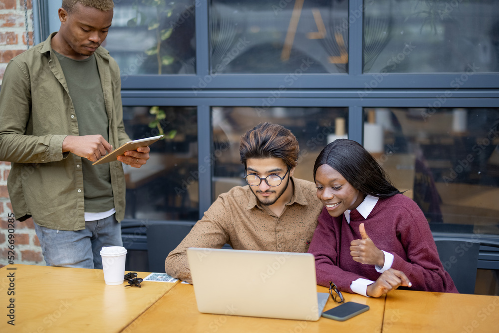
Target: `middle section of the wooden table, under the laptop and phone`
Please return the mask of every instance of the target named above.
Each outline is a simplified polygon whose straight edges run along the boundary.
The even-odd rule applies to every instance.
[[[317,286],[317,292],[328,293],[325,287]],[[156,332],[161,326],[168,332],[188,333],[240,333],[240,332],[380,332],[383,319],[385,298],[366,298],[360,295],[344,294],[346,301],[369,305],[369,311],[355,317],[355,320],[337,322],[320,318],[317,322],[225,316],[202,314],[198,311],[194,288],[178,284],[162,297],[139,318],[132,322],[124,332]],[[329,297],[324,311],[336,307]],[[164,324],[158,324],[164,323]]]

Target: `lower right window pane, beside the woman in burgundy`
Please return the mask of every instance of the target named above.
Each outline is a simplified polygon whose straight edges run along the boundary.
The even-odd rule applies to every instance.
[[[420,206],[433,231],[499,234],[499,109],[365,114],[366,149]]]

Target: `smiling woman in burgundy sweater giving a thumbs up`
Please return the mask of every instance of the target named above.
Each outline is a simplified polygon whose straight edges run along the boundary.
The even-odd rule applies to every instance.
[[[347,139],[328,144],[315,161],[314,180],[324,205],[308,249],[318,284],[372,297],[398,287],[458,292],[423,212],[364,147]]]

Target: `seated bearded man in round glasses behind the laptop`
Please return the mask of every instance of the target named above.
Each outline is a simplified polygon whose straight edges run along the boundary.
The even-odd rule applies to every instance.
[[[186,250],[306,252],[321,203],[314,183],[293,177],[299,146],[288,129],[260,123],[241,137],[248,186],[221,194],[165,261],[166,273],[191,283]]]

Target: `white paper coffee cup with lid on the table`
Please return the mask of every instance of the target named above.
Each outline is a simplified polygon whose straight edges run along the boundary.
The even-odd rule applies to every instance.
[[[106,285],[121,285],[125,280],[126,249],[122,246],[103,247],[100,251]]]

